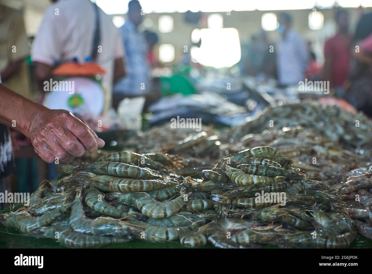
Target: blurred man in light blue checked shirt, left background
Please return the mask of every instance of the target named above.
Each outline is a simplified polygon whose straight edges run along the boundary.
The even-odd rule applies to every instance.
[[[148,45],[143,32],[138,30],[143,12],[139,1],[128,3],[128,16],[119,28],[124,43],[126,76],[114,87],[114,106],[125,97],[141,96],[150,93],[150,66],[147,61]]]

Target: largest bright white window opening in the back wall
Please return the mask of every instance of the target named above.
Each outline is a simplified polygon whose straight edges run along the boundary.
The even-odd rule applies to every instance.
[[[240,61],[240,40],[235,28],[201,29],[201,47],[192,47],[192,60],[215,68],[231,67]]]

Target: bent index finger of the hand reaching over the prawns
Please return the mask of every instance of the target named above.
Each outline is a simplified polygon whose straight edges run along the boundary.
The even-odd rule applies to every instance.
[[[98,149],[96,139],[90,132],[89,127],[77,118],[70,117],[69,121],[67,121],[67,129],[70,130],[90,152],[95,152]]]

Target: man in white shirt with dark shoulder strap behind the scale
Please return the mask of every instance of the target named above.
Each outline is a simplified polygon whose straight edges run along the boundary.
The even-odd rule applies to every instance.
[[[52,2],[44,12],[31,49],[38,89],[46,96],[44,83],[57,78],[52,70],[61,64],[95,63],[107,72],[101,84],[103,105],[108,109],[112,105],[113,83],[125,75],[118,29],[112,18],[90,0]],[[48,179],[55,176],[55,165],[48,165]]]

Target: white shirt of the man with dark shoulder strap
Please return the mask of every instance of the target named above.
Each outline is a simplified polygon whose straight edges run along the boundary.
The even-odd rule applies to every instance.
[[[102,52],[97,53],[96,63],[108,72],[103,81],[111,92],[114,61],[124,56],[124,46],[111,17],[98,10]],[[77,58],[78,63],[85,63],[92,52],[95,25],[95,11],[89,0],[60,0],[52,4],[45,11],[33,42],[32,61],[53,66]]]

